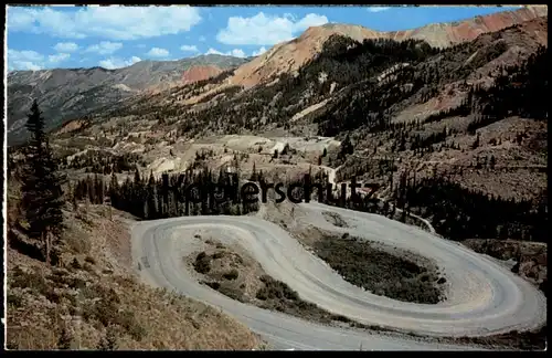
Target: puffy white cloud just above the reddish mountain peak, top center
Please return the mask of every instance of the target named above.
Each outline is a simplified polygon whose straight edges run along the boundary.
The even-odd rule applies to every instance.
[[[293,40],[309,27],[325,23],[328,23],[328,18],[316,13],[309,13],[297,20],[293,14],[279,18],[259,12],[252,18],[230,18],[226,28],[216,34],[216,40],[234,45],[274,45]]]

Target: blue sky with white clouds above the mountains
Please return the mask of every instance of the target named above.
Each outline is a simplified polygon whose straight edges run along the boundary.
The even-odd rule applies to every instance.
[[[9,7],[8,70],[117,69],[206,53],[257,55],[311,25],[406,30],[507,7]]]

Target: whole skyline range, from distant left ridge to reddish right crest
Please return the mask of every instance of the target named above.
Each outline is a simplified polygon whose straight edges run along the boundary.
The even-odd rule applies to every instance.
[[[283,76],[297,76],[301,69],[320,56],[329,40],[336,36],[347,38],[355,43],[374,39],[403,42],[416,40],[436,49],[448,49],[474,41],[485,33],[534,19],[545,19],[546,15],[546,7],[526,7],[461,22],[429,24],[394,32],[332,23],[309,28],[299,38],[279,43],[257,57],[238,59],[211,54],[179,61],[141,61],[118,70],[93,67],[12,72],[8,75],[8,138],[10,144],[18,144],[26,138],[24,123],[32,98],[38,98],[47,120],[47,129],[54,129],[72,119],[123,108],[130,105],[132,98],[142,101],[146,96],[156,103],[159,98],[156,94],[164,91],[177,93],[181,86],[198,87],[199,83],[206,84],[201,90],[195,90],[193,95],[177,97],[182,98],[182,105],[188,108],[204,104],[213,97],[220,99],[223,92],[231,91],[237,94],[235,98],[240,98],[247,96],[246,93],[252,87],[280,81]],[[532,40],[545,45],[548,29],[539,25],[524,25],[521,29],[528,31],[528,36]],[[524,46],[522,43],[517,45]],[[238,94],[244,91],[245,94]],[[227,93],[223,96],[227,96]],[[233,101],[240,101],[235,98]]]

